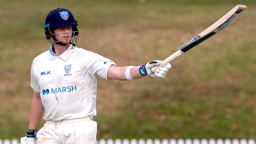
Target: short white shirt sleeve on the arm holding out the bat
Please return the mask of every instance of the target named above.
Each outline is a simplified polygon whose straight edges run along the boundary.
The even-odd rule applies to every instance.
[[[93,57],[94,62],[90,66],[90,71],[93,75],[98,75],[100,78],[108,79],[108,69],[111,65],[117,65],[110,59],[101,55],[95,54]]]

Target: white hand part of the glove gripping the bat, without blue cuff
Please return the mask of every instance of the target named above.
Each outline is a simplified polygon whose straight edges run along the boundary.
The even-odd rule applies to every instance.
[[[155,72],[151,71],[151,68],[154,66],[159,66],[162,61],[156,60],[156,61],[150,61],[145,65],[145,69],[147,71],[147,74],[151,77],[159,77],[159,78],[164,78],[169,69],[171,68],[171,64],[167,63],[163,67],[160,67],[156,69]]]

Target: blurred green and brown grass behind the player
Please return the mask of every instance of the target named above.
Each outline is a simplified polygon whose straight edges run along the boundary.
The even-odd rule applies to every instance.
[[[165,59],[237,4],[248,9],[164,79],[98,79],[95,120],[98,138],[256,139],[255,0],[0,0],[0,139],[26,134],[30,67],[48,50],[50,10],[72,11],[78,47],[126,66]]]

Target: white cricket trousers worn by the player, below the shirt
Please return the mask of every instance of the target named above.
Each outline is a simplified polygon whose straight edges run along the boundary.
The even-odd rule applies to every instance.
[[[37,144],[96,144],[97,122],[86,118],[47,120],[37,132]]]

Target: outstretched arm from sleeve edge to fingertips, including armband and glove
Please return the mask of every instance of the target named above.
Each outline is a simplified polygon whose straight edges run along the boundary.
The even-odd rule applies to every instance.
[[[139,79],[143,76],[159,77],[164,78],[171,64],[164,65],[158,68],[155,72],[152,72],[150,69],[154,66],[160,65],[161,61],[150,61],[145,65],[141,66],[115,66],[111,65],[108,70],[108,79],[117,79],[117,80],[132,80]]]

